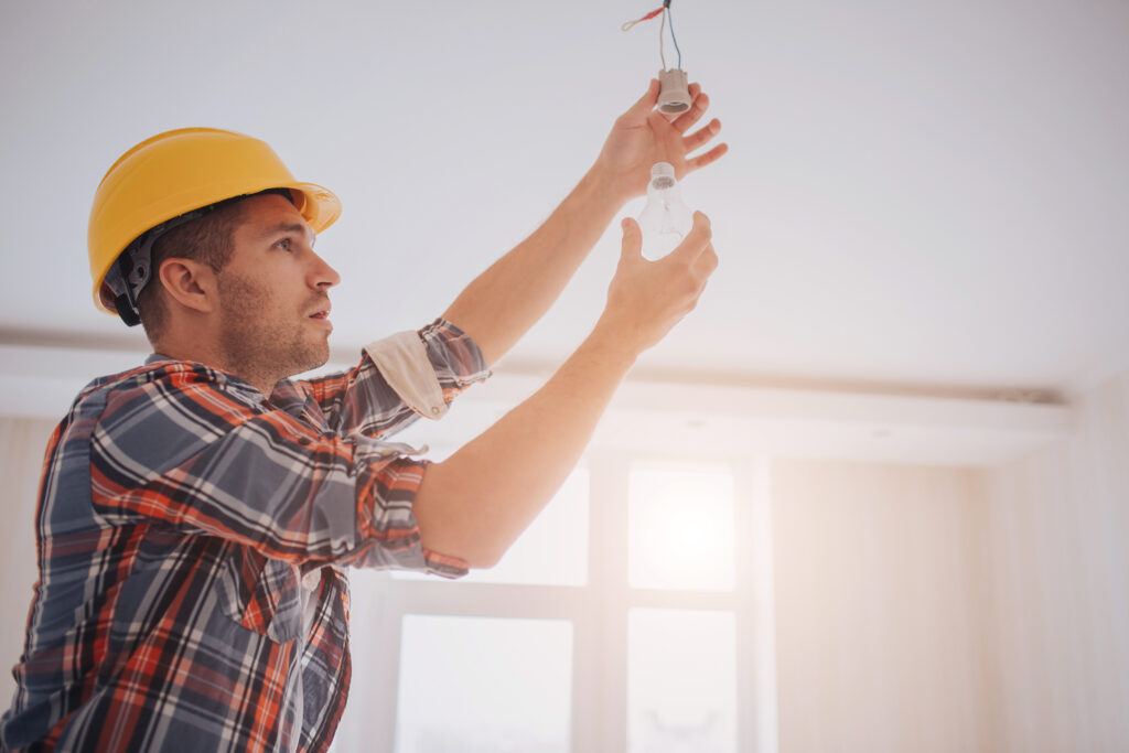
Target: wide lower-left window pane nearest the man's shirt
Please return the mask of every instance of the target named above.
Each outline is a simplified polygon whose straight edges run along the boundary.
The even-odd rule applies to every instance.
[[[404,616],[397,753],[566,753],[572,624]]]

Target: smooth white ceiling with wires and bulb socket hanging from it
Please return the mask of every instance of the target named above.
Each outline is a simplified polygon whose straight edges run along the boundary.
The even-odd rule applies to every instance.
[[[658,28],[620,24],[651,5],[3,3],[0,334],[140,338],[90,304],[89,201],[184,125],[263,138],[341,196],[318,243],[338,348],[422,325],[646,88]],[[1062,391],[1129,368],[1129,3],[673,9],[730,145],[684,185],[721,264],[642,366]],[[507,361],[567,356],[618,253],[613,224]]]

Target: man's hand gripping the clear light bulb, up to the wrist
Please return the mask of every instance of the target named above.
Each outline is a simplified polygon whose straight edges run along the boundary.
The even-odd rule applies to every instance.
[[[659,342],[693,310],[717,269],[709,218],[694,212],[694,225],[677,248],[657,261],[642,255],[642,235],[633,219],[623,220],[623,247],[607,304],[594,335],[604,335],[638,356]]]

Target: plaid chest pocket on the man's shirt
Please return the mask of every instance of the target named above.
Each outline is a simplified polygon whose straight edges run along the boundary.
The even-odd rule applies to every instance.
[[[236,546],[219,575],[220,608],[261,636],[285,643],[301,634],[301,576],[282,560]]]

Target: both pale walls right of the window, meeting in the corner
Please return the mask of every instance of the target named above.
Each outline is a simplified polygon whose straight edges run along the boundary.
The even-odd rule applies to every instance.
[[[1129,750],[1129,375],[984,470],[772,465],[781,751]]]

